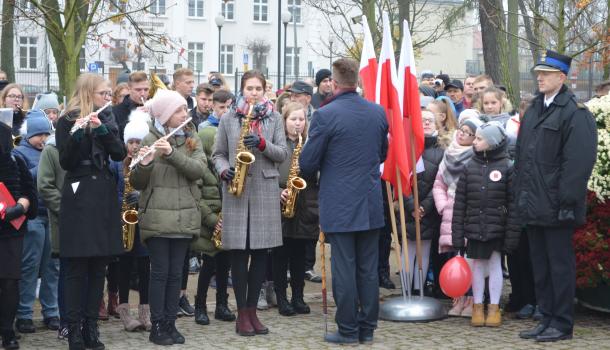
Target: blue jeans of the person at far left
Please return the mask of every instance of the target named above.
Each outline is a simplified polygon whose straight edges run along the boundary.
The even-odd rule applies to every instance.
[[[33,318],[33,305],[36,300],[36,282],[41,276],[40,305],[44,318],[59,317],[57,308],[57,284],[59,280],[59,261],[51,258],[51,236],[49,219],[38,216],[28,221],[28,232],[23,240],[21,257],[21,280],[19,281],[18,319]]]

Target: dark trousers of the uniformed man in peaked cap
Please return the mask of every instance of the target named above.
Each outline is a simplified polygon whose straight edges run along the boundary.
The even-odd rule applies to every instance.
[[[563,332],[574,327],[576,259],[573,228],[528,226],[536,300],[542,322]]]

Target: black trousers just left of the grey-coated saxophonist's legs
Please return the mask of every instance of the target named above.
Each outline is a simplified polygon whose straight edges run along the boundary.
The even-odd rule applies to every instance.
[[[199,279],[197,280],[197,296],[196,301],[200,305],[205,305],[210,280],[216,274],[216,304],[227,303],[227,283],[229,280],[229,269],[231,262],[229,252],[222,251],[216,253],[213,257],[202,254],[203,262],[199,270]]]

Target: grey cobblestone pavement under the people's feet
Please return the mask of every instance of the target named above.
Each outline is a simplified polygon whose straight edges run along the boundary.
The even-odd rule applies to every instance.
[[[391,259],[390,261],[393,261]],[[327,265],[328,266],[328,265]],[[392,276],[398,282],[397,276]],[[333,348],[324,343],[324,317],[320,284],[306,283],[306,301],[311,306],[309,315],[284,317],[277,308],[259,311],[262,322],[270,329],[270,334],[254,337],[240,337],[235,334],[233,322],[220,322],[213,319],[214,292],[210,290],[208,311],[211,320],[209,326],[195,324],[192,317],[182,317],[177,327],[186,337],[186,344],[174,345],[174,349],[326,349]],[[397,283],[398,285],[399,283]],[[191,302],[197,285],[196,275],[189,278],[189,293]],[[329,283],[330,285],[330,283]],[[505,295],[507,289],[505,288]],[[389,297],[400,295],[399,290],[381,290],[382,301]],[[132,292],[132,305],[135,305],[137,294]],[[233,297],[231,308],[234,310]],[[449,307],[449,301],[443,301]],[[329,291],[329,331],[335,331],[334,304]],[[132,306],[132,312],[137,312]],[[39,314],[36,312],[35,314]],[[43,329],[42,321],[35,321],[39,329],[34,334],[24,334],[21,348],[37,349],[67,349],[67,342],[60,341],[55,332]],[[511,315],[505,315],[504,324],[500,328],[473,328],[467,318],[447,318],[430,323],[399,323],[379,322],[375,332],[375,342],[366,346],[372,349],[610,349],[610,315],[577,308],[574,339],[553,344],[538,344],[522,340],[518,332],[533,327],[532,321],[516,320]],[[101,340],[106,349],[167,349],[155,346],[148,341],[148,333],[127,333],[123,331],[118,319],[100,321]],[[365,346],[359,346],[365,348]],[[334,347],[340,348],[340,347]]]

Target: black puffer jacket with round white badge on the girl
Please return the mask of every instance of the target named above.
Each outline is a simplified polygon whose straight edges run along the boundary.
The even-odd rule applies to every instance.
[[[513,200],[513,167],[506,152],[507,140],[500,147],[475,152],[460,177],[453,205],[452,241],[465,246],[464,238],[487,242],[504,239],[504,250],[513,251],[519,243],[520,227]]]

